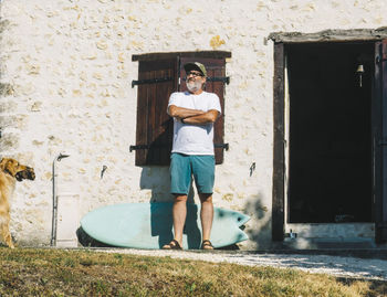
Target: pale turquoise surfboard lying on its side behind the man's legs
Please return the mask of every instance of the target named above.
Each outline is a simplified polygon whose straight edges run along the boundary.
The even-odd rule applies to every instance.
[[[215,247],[248,240],[240,229],[250,220],[243,213],[215,208],[211,242]],[[160,248],[172,238],[172,203],[125,203],[91,211],[81,226],[94,240],[119,247]],[[200,205],[187,204],[184,248],[200,248]]]

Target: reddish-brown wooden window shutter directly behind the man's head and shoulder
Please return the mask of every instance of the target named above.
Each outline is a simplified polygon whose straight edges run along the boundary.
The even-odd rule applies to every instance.
[[[217,119],[213,126],[213,144],[216,163],[220,165],[223,162],[223,145],[224,138],[224,82],[217,79],[211,82],[211,78],[226,77],[226,60],[224,59],[208,59],[208,57],[181,57],[180,59],[180,91],[187,91],[186,86],[186,72],[184,65],[188,62],[199,62],[206,66],[208,82],[206,84],[206,91],[216,93],[219,96],[222,114]]]

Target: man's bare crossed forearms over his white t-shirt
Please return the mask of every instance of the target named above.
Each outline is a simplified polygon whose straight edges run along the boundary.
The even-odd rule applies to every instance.
[[[219,116],[219,112],[216,109],[202,112],[170,105],[168,108],[168,115],[180,120],[184,119],[184,123],[186,124],[206,125],[209,123],[215,123]]]

